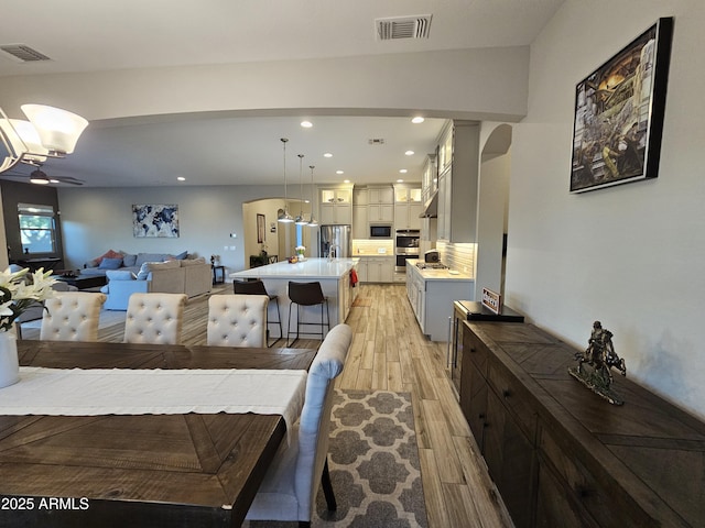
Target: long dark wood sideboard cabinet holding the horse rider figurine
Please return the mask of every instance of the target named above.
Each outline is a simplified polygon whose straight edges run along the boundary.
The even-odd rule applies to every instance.
[[[517,527],[705,526],[705,424],[618,373],[608,404],[533,324],[463,324],[460,407]]]

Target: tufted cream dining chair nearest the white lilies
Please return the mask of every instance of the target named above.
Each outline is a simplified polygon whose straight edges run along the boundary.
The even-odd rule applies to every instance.
[[[104,294],[62,292],[44,301],[40,339],[43,341],[98,341]]]

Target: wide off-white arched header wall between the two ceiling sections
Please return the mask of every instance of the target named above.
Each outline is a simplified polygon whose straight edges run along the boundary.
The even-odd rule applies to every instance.
[[[339,116],[415,110],[517,121],[527,110],[528,55],[525,46],[495,47],[3,77],[0,102],[11,118],[20,118],[20,105],[31,100],[89,121],[207,111],[285,114],[291,109]]]

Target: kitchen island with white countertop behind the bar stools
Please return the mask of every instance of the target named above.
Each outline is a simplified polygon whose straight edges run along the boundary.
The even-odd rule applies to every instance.
[[[357,296],[357,287],[354,287],[350,278],[352,270],[358,265],[359,258],[306,258],[305,261],[290,264],[286,261],[253,267],[230,274],[235,280],[259,278],[270,295],[279,296],[279,305],[282,317],[284,336],[289,331],[289,282],[313,283],[319,282],[323,295],[328,298],[328,314],[330,315],[330,328],[345,322],[350,312],[350,306]],[[355,273],[357,276],[357,271]],[[357,286],[357,285],[356,285]],[[275,314],[270,308],[270,314]],[[321,307],[302,307],[302,321],[315,322],[321,320]],[[291,324],[295,330],[296,310],[291,316]],[[313,329],[314,327],[306,327]],[[303,329],[302,329],[303,333]]]

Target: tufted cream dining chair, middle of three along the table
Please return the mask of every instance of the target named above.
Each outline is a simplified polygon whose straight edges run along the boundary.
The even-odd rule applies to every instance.
[[[126,343],[181,344],[186,294],[132,294],[124,319]]]

